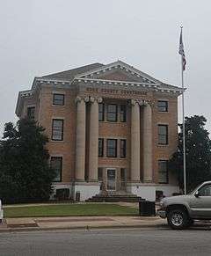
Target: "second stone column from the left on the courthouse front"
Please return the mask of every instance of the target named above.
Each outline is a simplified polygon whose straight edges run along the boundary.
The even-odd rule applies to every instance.
[[[90,108],[90,149],[89,149],[89,180],[98,180],[98,102],[101,99],[91,97]]]

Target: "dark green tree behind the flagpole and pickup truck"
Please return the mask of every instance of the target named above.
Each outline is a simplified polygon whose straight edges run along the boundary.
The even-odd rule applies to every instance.
[[[205,129],[204,116],[186,117],[186,185],[187,191],[193,190],[201,182],[211,179],[211,141]],[[178,172],[179,186],[184,188],[183,172],[183,132],[178,125],[178,150],[170,161],[170,169]]]

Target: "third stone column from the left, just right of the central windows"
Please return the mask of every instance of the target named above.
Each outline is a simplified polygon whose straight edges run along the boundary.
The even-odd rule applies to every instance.
[[[140,106],[131,100],[131,181],[140,182]]]

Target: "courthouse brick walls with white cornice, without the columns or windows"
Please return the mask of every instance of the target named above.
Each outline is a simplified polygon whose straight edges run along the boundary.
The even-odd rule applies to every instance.
[[[23,118],[27,114],[27,107],[35,107],[35,119],[44,128],[46,128],[45,133],[49,138],[49,143],[47,143],[47,149],[49,150],[50,156],[62,157],[62,182],[60,182],[59,184],[71,185],[72,182],[76,181],[76,97],[85,99],[84,180],[87,181],[89,181],[89,159],[91,154],[91,99],[102,99],[102,102],[106,104],[106,106],[108,104],[117,105],[117,121],[106,121],[107,107],[105,110],[105,121],[98,121],[98,138],[104,138],[104,157],[98,157],[98,167],[103,168],[104,182],[106,182],[107,178],[106,169],[116,169],[115,189],[118,191],[121,187],[121,168],[125,168],[127,170],[128,184],[131,180],[131,102],[133,100],[135,100],[135,102],[138,101],[138,107],[140,109],[140,170],[138,170],[138,172],[140,172],[139,182],[141,186],[142,184],[144,184],[143,178],[145,170],[143,167],[143,162],[144,157],[146,157],[144,156],[144,154],[147,154],[148,151],[151,149],[152,179],[150,180],[150,184],[145,185],[149,185],[149,187],[152,186],[153,184],[155,186],[157,185],[158,188],[156,187],[156,190],[159,190],[159,186],[161,185],[159,185],[158,180],[158,160],[169,160],[171,155],[177,149],[178,95],[181,93],[180,88],[168,84],[162,84],[161,82],[157,81],[152,77],[149,77],[144,73],[138,73],[139,75],[137,75],[137,69],[133,69],[132,67],[128,66],[123,62],[115,62],[115,65],[110,64],[108,65],[108,69],[104,69],[104,67],[107,66],[102,66],[98,69],[93,69],[93,71],[92,69],[88,70],[88,74],[79,74],[80,77],[76,77],[72,81],[67,81],[65,79],[65,76],[63,79],[61,79],[61,77],[60,79],[54,79],[52,77],[35,78],[33,88],[30,91],[30,93],[28,93],[28,91],[27,93],[25,91],[19,93],[16,113],[18,114],[19,118]],[[69,71],[71,72],[71,70]],[[51,76],[54,77],[54,74]],[[139,82],[140,84],[138,84]],[[54,94],[64,95],[64,106],[54,106]],[[158,100],[168,102],[167,112],[158,111]],[[146,109],[144,108],[146,104],[150,106],[151,111],[151,122],[149,122],[149,125],[151,125],[152,142],[151,148],[149,147],[147,153],[144,153],[146,151],[146,147],[148,146],[148,142],[144,141],[144,139],[146,140],[146,131],[144,131],[144,123],[148,121],[148,117],[146,116],[145,113],[143,113],[144,109]],[[126,105],[126,122],[120,122],[120,105]],[[52,140],[53,119],[63,120],[62,141]],[[158,144],[158,124],[168,126],[167,145]],[[118,140],[117,157],[106,157],[106,139]],[[120,158],[120,139],[127,140],[126,158]],[[143,145],[145,145],[145,148],[143,148]],[[150,156],[148,158],[150,159]],[[168,176],[169,182],[167,185],[170,187],[177,187],[177,179],[174,176],[174,174],[169,172]],[[56,184],[56,186],[58,186],[59,184]]]

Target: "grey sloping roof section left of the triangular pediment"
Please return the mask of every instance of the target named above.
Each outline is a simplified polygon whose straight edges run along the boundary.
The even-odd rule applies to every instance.
[[[103,66],[105,66],[102,63],[92,63],[89,65],[85,65],[76,69],[69,69],[69,70],[65,70],[62,72],[58,72],[58,73],[54,73],[54,74],[50,74],[47,76],[43,76],[41,78],[52,78],[52,79],[60,79],[60,80],[68,80],[71,81],[74,77],[76,77],[76,75],[80,75],[83,74],[84,72],[89,72],[92,71],[94,69],[98,69],[98,68],[102,68]]]

